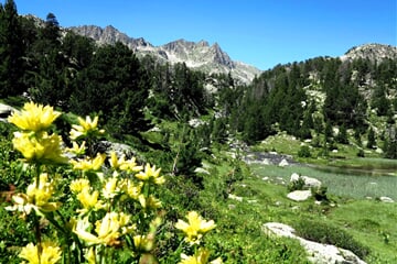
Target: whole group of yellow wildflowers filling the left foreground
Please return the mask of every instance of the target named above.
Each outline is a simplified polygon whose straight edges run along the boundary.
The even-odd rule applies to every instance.
[[[73,140],[73,147],[65,151],[76,154],[76,157],[67,161],[63,156],[62,138],[49,132],[50,127],[60,116],[60,112],[54,111],[49,106],[43,107],[29,102],[24,105],[21,112],[14,112],[9,118],[9,122],[22,130],[14,133],[13,146],[22,153],[25,162],[34,165],[36,179],[28,186],[25,194],[14,195],[14,206],[7,209],[22,211],[23,215],[34,211],[40,217],[47,218],[49,222],[62,230],[60,233],[67,230],[75,233],[76,235],[72,235],[73,239],[84,243],[73,243],[73,246],[63,244],[62,248],[68,246],[68,251],[72,252],[75,250],[72,249],[74,246],[84,246],[77,251],[84,253],[85,261],[89,264],[97,263],[98,260],[101,263],[107,263],[106,257],[112,252],[108,254],[109,252],[105,251],[125,249],[125,245],[131,246],[137,256],[144,255],[150,260],[155,260],[152,251],[155,246],[157,230],[161,224],[157,209],[162,205],[161,200],[154,197],[153,190],[158,185],[165,182],[165,178],[160,175],[161,169],[154,165],[151,166],[149,163],[144,167],[140,166],[136,158],[118,157],[115,152],[111,152],[108,157],[110,167],[105,168],[107,155],[97,153],[94,156],[93,142],[98,135],[105,133],[104,130],[97,128],[98,117],[93,120],[90,117],[86,117],[85,120],[78,118],[78,124],[72,125],[69,136]],[[87,140],[87,150],[89,150],[87,156],[84,156],[86,142],[81,142],[81,144],[75,142],[81,139]],[[81,208],[76,209],[76,215],[66,220],[68,223],[65,223],[61,216],[60,219],[65,227],[60,228],[60,223],[56,223],[60,220],[57,219],[58,216],[49,213],[57,210],[61,206],[53,197],[55,194],[54,180],[50,180],[49,175],[41,173],[41,169],[44,168],[43,164],[67,162],[73,169],[82,170],[82,175],[87,178],[72,180],[69,185],[72,198],[79,201]],[[133,212],[133,218],[131,215],[122,212],[126,210]],[[153,217],[155,218],[151,221],[150,219]],[[31,264],[55,264],[60,262],[61,248],[54,243],[41,242],[40,221],[39,218],[34,219],[37,244],[29,243],[22,249],[20,257]],[[179,220],[175,228],[182,230],[185,234],[184,240],[197,249],[203,235],[214,229],[215,223],[213,220],[204,220],[195,211],[189,212],[186,219],[187,222]],[[151,222],[149,223],[149,221]],[[140,223],[139,228],[136,223]],[[146,230],[148,228],[149,230]],[[181,254],[180,263],[222,263],[221,258],[210,262],[210,252],[204,248],[194,252],[192,256]],[[100,256],[100,254],[104,255]],[[66,255],[64,257],[67,258]],[[71,261],[72,258],[67,260]]]

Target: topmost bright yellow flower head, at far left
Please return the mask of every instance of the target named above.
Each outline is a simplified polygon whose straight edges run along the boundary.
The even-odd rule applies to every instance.
[[[21,130],[34,132],[46,130],[61,112],[54,111],[50,106],[41,106],[34,102],[26,102],[21,112],[13,112],[8,121]]]

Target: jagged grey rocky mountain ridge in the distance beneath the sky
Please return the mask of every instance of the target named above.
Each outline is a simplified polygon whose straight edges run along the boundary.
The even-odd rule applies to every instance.
[[[228,74],[249,84],[261,72],[250,65],[233,61],[222,51],[217,43],[210,45],[206,41],[189,42],[178,40],[161,46],[153,46],[143,38],[133,38],[119,32],[111,25],[105,29],[96,25],[68,28],[73,32],[94,38],[98,44],[114,44],[121,42],[133,50],[138,56],[152,55],[162,63],[185,63],[187,67],[200,69],[208,74]]]

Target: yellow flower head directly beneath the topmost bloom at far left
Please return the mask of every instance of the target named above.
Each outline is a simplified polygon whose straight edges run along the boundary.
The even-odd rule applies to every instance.
[[[66,163],[62,155],[62,138],[56,134],[14,132],[14,148],[20,151],[28,162]]]

